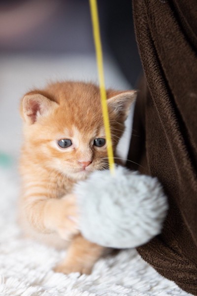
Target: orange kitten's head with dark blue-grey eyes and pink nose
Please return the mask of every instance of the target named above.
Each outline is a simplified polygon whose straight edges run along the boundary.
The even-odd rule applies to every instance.
[[[107,90],[115,151],[136,91]],[[21,101],[26,153],[49,170],[74,180],[108,167],[99,88],[91,83],[60,82],[27,93]]]

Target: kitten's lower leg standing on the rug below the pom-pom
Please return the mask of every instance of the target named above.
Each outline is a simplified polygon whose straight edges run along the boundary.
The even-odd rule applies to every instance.
[[[95,262],[105,253],[106,248],[86,240],[82,235],[73,238],[65,260],[57,265],[56,272],[80,272],[90,274]]]

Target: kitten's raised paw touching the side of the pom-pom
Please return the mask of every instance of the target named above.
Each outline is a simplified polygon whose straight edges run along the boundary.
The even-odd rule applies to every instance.
[[[74,194],[51,199],[45,209],[46,228],[56,231],[62,239],[70,240],[79,233],[78,208]]]

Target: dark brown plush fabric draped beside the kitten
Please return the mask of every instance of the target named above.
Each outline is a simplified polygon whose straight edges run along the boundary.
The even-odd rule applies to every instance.
[[[128,162],[157,176],[169,200],[162,234],[138,252],[197,295],[197,1],[133,0],[145,79]]]

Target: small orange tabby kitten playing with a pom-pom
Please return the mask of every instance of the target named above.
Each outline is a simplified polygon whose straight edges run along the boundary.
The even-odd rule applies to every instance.
[[[114,151],[135,97],[135,91],[107,90]],[[71,81],[49,84],[24,96],[21,115],[21,225],[37,240],[68,248],[56,271],[88,274],[105,248],[80,234],[72,187],[91,172],[108,168],[99,88]]]

